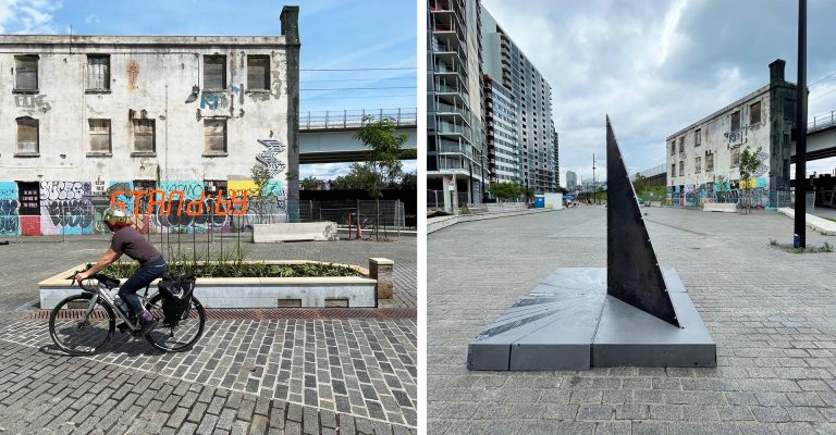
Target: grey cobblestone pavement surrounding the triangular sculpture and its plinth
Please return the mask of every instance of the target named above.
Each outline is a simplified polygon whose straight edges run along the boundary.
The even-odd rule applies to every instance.
[[[716,369],[469,372],[467,344],[542,276],[606,265],[606,212],[458,224],[428,236],[429,433],[836,433],[836,253],[788,252],[792,221],[776,213],[646,220],[717,344]]]

